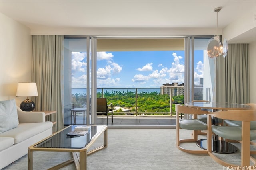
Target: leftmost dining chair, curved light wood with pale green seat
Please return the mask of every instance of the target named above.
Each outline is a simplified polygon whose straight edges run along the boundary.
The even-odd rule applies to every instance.
[[[197,115],[208,114],[208,111],[175,104],[176,110],[176,147],[192,154],[207,154],[207,150],[190,150],[180,146],[180,143],[191,143],[198,140],[198,130],[207,130],[207,124],[198,120]],[[179,114],[192,114],[194,119],[179,119]],[[192,138],[180,139],[180,129],[192,130]],[[199,147],[198,147],[199,148]]]

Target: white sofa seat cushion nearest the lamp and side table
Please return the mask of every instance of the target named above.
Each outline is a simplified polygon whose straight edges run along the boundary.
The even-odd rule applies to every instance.
[[[20,143],[52,127],[52,122],[20,123],[18,127],[1,133],[1,137],[13,137],[14,144]]]

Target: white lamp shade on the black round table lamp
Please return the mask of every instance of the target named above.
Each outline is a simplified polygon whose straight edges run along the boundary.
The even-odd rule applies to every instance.
[[[36,83],[18,82],[16,97],[38,96]]]

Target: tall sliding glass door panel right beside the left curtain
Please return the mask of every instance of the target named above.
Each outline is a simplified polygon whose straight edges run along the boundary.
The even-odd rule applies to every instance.
[[[65,125],[92,124],[92,41],[81,36],[64,39]]]

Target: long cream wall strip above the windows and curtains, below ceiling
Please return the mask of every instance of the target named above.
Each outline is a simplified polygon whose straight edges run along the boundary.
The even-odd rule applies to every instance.
[[[213,35],[216,29],[127,29],[127,28],[94,28],[94,29],[31,29],[32,35],[95,35],[96,37],[186,37],[187,35]],[[222,30],[218,29],[218,35]]]

